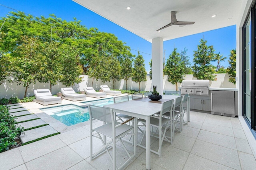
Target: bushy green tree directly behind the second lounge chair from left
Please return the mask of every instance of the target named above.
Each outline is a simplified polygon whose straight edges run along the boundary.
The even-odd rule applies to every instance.
[[[75,83],[81,83],[82,77],[79,77],[83,73],[81,65],[79,65],[79,59],[76,57],[77,52],[69,45],[62,45],[61,47],[61,76],[60,82],[65,86],[75,85]]]

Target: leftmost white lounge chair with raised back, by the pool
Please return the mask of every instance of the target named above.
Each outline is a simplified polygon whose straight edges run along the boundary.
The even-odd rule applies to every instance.
[[[49,89],[37,89],[34,90],[34,94],[36,96],[34,102],[40,103],[41,105],[47,106],[61,103],[61,98],[52,96],[52,93]]]

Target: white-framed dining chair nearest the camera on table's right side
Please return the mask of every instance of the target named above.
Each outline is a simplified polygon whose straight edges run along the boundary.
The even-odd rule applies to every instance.
[[[151,131],[151,134],[154,137],[157,137],[159,139],[158,151],[155,151],[155,150],[151,149],[151,152],[153,152],[155,154],[158,154],[159,157],[161,157],[161,155],[162,155],[162,143],[163,143],[164,139],[172,144],[172,133],[170,133],[171,134],[170,140],[168,140],[168,138],[166,136],[166,131],[167,131],[168,127],[170,127],[170,130],[172,132],[172,119],[162,117],[162,115],[164,113],[169,113],[170,114],[170,112],[172,111],[172,107],[173,107],[173,101],[174,100],[169,100],[169,101],[166,101],[166,102],[162,103],[162,107],[161,107],[161,111],[160,111],[159,116],[150,117],[150,125],[152,127],[155,127],[155,128],[158,129],[157,134],[156,134],[157,131],[153,131],[153,130]],[[144,119],[138,119],[138,122],[141,122],[144,125],[146,123],[146,121]],[[142,140],[143,140],[144,136],[145,136],[145,131],[143,133],[142,139],[140,140],[140,143],[139,143],[140,146],[142,146],[141,144],[142,144]],[[142,147],[144,147],[144,146],[142,146]]]

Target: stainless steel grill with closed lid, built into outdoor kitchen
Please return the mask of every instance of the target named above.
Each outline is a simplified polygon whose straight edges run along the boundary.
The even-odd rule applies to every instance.
[[[209,96],[209,80],[183,80],[181,94]]]

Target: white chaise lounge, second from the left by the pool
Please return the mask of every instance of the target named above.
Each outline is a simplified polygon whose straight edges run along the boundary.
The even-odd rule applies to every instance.
[[[72,87],[61,88],[60,91],[64,96],[63,99],[71,101],[86,100],[86,95],[76,93]]]

